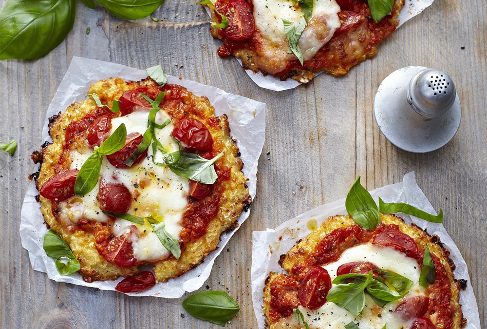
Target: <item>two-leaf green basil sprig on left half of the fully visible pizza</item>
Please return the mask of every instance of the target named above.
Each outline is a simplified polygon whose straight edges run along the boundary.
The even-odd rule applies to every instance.
[[[102,155],[111,155],[117,152],[125,145],[126,139],[127,129],[125,124],[122,123],[99,148],[95,147],[93,154],[83,163],[76,176],[76,195],[82,196],[94,189],[100,175]]]

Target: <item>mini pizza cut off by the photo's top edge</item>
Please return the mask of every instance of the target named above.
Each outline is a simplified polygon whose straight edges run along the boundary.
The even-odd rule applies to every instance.
[[[372,2],[372,3],[371,3]],[[377,3],[379,2],[379,3]],[[345,75],[373,58],[395,30],[405,0],[205,0],[221,57],[244,69],[309,82],[315,72]],[[369,7],[370,4],[370,7]]]

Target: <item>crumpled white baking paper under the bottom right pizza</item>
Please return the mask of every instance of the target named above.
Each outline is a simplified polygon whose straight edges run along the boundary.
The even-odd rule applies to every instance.
[[[384,202],[405,202],[428,213],[435,213],[430,201],[416,184],[414,172],[405,174],[401,183],[375,189],[371,194],[377,204],[379,204],[378,197],[380,196]],[[252,234],[252,302],[254,303],[254,312],[259,328],[264,328],[264,312],[262,310],[264,282],[269,272],[283,272],[278,264],[281,254],[288,252],[298,239],[311,233],[306,225],[309,220],[316,219],[319,227],[326,218],[336,214],[347,214],[345,198],[302,213],[282,223],[275,230],[267,229]],[[460,290],[460,303],[462,304],[463,315],[467,318],[466,328],[481,329],[479,309],[470,284],[467,264],[443,225],[430,223],[404,213],[399,213],[398,216],[402,217],[407,224],[415,223],[422,229],[427,229],[431,235],[436,234],[440,237],[441,242],[451,252],[450,258],[456,265],[456,269],[453,271],[455,278],[468,280],[467,289]],[[448,214],[446,215],[446,223],[448,224]]]

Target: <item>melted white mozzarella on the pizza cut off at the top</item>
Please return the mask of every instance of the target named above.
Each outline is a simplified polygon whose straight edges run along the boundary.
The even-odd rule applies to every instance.
[[[254,0],[255,24],[262,37],[271,41],[275,47],[288,46],[282,19],[297,25],[303,16],[300,7],[292,1]],[[314,0],[311,19],[305,27],[299,46],[304,60],[313,58],[340,27],[338,12],[340,7],[335,0]]]

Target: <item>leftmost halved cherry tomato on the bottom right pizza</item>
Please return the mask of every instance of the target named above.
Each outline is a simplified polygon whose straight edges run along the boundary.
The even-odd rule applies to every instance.
[[[328,271],[321,266],[313,266],[301,281],[298,297],[302,306],[317,310],[326,303],[326,295],[332,287]]]

